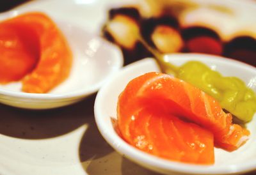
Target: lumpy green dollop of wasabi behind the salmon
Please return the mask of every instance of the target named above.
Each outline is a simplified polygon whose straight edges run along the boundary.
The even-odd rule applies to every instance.
[[[180,66],[176,77],[189,82],[220,102],[221,107],[243,123],[252,120],[256,112],[255,92],[237,77],[223,77],[199,61]]]

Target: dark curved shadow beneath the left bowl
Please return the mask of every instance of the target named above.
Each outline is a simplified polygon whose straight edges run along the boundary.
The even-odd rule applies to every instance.
[[[47,139],[76,130],[93,118],[95,95],[52,110],[22,110],[0,104],[0,133],[20,139]]]

